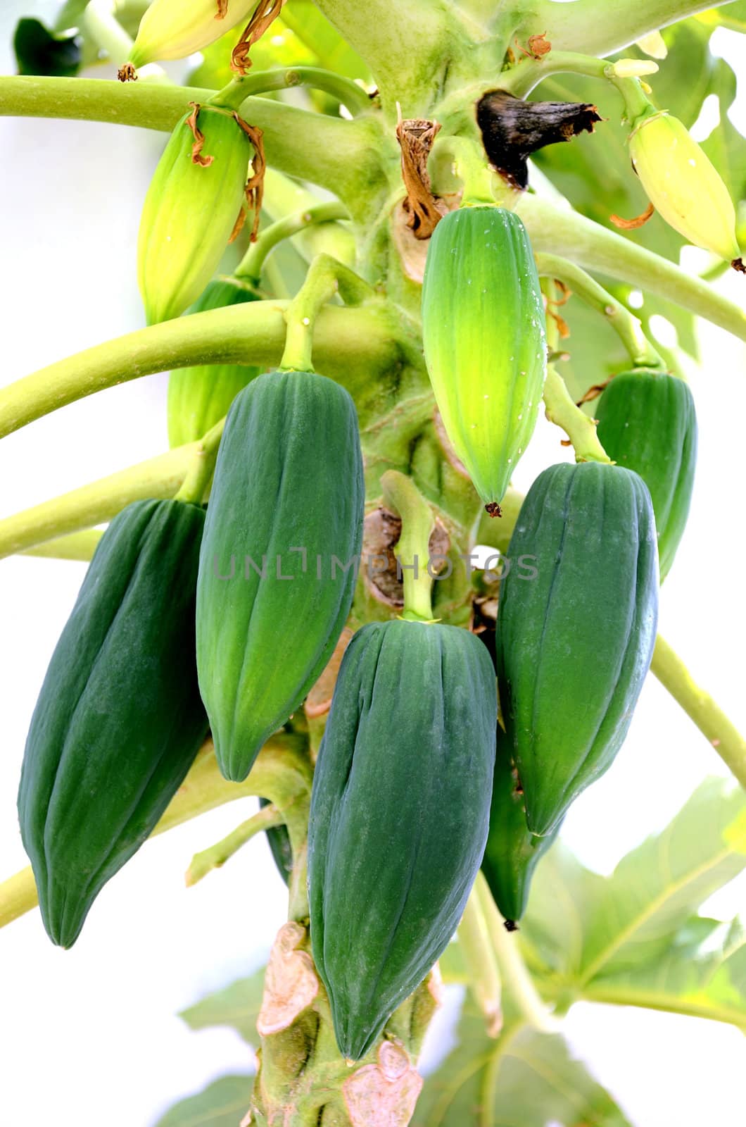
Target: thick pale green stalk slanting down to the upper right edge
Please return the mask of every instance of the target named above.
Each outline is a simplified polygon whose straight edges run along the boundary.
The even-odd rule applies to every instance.
[[[746,340],[743,309],[659,255],[570,208],[558,207],[529,193],[521,197],[516,211],[526,224],[535,251],[561,255],[585,269],[655,293]]]

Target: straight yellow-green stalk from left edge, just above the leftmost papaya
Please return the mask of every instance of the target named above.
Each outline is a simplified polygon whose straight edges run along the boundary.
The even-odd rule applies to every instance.
[[[175,446],[158,458],[7,516],[0,521],[0,559],[109,521],[134,500],[172,497],[184,483],[198,452],[198,442]]]

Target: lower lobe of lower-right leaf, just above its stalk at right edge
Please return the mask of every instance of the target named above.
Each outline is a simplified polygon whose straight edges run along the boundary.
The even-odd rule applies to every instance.
[[[655,960],[602,975],[588,1001],[726,1021],[746,1031],[746,933],[739,921],[694,916]]]

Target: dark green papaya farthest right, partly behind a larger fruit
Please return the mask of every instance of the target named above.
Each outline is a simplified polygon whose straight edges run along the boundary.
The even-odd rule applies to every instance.
[[[622,372],[597,409],[598,438],[618,465],[650,490],[665,579],[684,534],[694,487],[696,412],[683,380],[665,372]]]

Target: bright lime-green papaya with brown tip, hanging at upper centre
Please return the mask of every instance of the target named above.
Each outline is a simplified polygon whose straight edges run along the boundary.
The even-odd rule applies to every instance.
[[[462,207],[437,224],[425,265],[423,340],[445,432],[497,515],[547,376],[544,304],[514,212]]]

